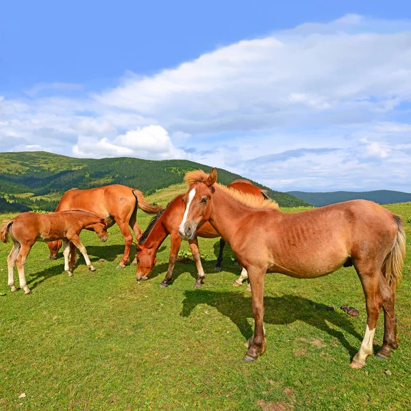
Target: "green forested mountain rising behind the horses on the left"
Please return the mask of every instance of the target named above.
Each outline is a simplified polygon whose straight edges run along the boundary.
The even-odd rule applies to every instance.
[[[61,195],[71,188],[92,188],[107,184],[124,184],[146,195],[171,184],[182,182],[187,171],[210,166],[188,160],[140,160],[138,158],[79,159],[45,151],[0,153],[0,196],[9,203],[32,210],[54,210]],[[219,182],[229,184],[243,178],[217,169]],[[269,190],[283,207],[307,206],[306,201],[285,192]],[[29,194],[27,194],[29,193]],[[0,210],[2,210],[0,206]]]

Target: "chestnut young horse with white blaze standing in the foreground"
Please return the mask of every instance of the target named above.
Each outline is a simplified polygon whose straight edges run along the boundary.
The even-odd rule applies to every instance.
[[[220,184],[217,173],[186,174],[190,185],[179,234],[195,237],[206,221],[229,242],[238,262],[247,269],[255,329],[244,360],[266,351],[262,315],[267,272],[297,278],[321,277],[353,265],[364,290],[367,322],[364,339],[351,367],[365,365],[373,353],[375,326],[384,309],[384,340],[379,358],[398,347],[395,289],[401,279],[406,235],[401,218],[371,201],[353,200],[288,214],[266,201],[245,196]]]

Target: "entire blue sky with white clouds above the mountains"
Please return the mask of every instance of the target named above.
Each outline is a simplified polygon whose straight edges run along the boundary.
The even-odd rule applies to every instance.
[[[0,150],[411,191],[408,1],[0,2]]]

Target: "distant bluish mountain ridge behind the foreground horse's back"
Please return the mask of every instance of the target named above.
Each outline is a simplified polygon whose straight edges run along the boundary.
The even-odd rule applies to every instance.
[[[349,201],[356,199],[364,199],[374,201],[379,204],[406,203],[411,201],[409,192],[391,191],[391,190],[376,190],[376,191],[335,191],[335,192],[304,192],[304,191],[288,191],[288,194],[293,195],[301,200],[307,201],[316,207],[327,206],[328,204],[340,203],[341,201]]]

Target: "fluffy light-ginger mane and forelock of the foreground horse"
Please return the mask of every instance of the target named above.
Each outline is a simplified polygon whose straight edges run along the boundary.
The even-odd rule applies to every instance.
[[[204,173],[203,170],[189,171],[184,177],[184,181],[187,182],[190,186],[196,183],[206,183],[208,179],[208,174]],[[223,186],[222,184],[216,183],[214,186],[217,186],[223,192],[225,192],[230,197],[236,199],[240,203],[244,204],[249,208],[258,208],[264,210],[278,210],[278,204],[273,199],[265,199],[256,197],[253,194],[245,194],[236,190],[235,188]]]

